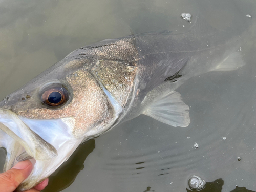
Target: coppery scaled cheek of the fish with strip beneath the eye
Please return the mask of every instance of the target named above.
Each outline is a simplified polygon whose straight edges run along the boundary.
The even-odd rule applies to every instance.
[[[70,131],[78,138],[92,129],[100,131],[107,127],[114,119],[114,109],[94,77],[87,70],[80,69],[67,75],[66,81],[73,92],[72,100],[67,105],[58,109],[39,106],[37,102],[35,107],[27,105],[26,110],[16,110],[16,113],[31,119],[72,117],[74,123]]]

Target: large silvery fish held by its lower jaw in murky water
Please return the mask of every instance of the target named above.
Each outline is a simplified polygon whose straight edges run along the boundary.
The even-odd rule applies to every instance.
[[[194,20],[185,33],[146,32],[76,49],[1,101],[4,171],[28,159],[34,166],[17,190],[49,177],[79,144],[141,114],[187,127],[189,106],[176,89],[245,65],[246,35]]]

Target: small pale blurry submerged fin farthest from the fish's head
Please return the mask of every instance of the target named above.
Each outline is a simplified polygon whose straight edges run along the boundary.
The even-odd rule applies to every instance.
[[[242,51],[239,48],[236,52],[228,55],[213,71],[232,71],[245,65],[242,59]]]

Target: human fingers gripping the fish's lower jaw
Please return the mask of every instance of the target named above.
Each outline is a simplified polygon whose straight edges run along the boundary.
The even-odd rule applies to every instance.
[[[1,192],[13,192],[16,190],[18,185],[29,176],[32,169],[32,163],[27,160],[17,163],[10,170],[7,170],[7,172],[0,174]],[[39,192],[40,190],[43,190],[47,184],[48,178],[26,192]]]

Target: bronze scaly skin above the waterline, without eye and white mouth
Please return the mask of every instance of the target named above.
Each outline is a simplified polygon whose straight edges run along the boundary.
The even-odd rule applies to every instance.
[[[132,38],[115,40],[116,45],[112,41],[114,40],[103,45],[99,43],[77,49],[11,94],[3,108],[32,119],[73,116],[77,118],[76,128],[73,130],[76,136],[84,134],[91,127],[108,123],[113,118],[113,109],[98,81],[101,81],[125,108],[136,74],[134,60],[137,59]],[[71,91],[70,100],[62,108],[54,109],[42,105],[38,95],[49,83],[64,84]],[[26,96],[29,96],[29,99],[22,101]],[[80,127],[83,127],[83,131]]]

